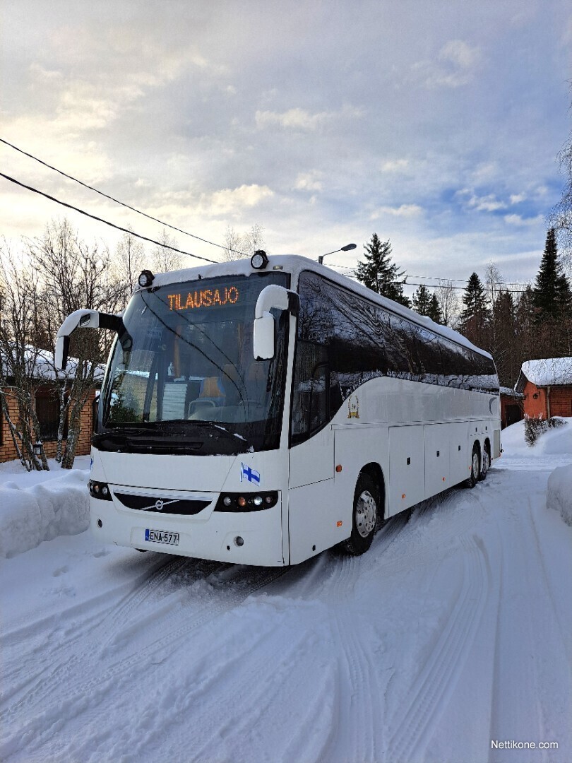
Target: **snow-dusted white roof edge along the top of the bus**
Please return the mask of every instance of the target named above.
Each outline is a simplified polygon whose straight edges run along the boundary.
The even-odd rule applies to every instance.
[[[477,353],[480,353],[480,355],[484,355],[487,358],[492,357],[489,353],[486,352],[486,350],[475,346],[465,336],[458,333],[458,331],[455,331],[448,326],[435,324],[434,321],[425,315],[419,315],[413,310],[410,310],[409,307],[403,307],[402,304],[398,304],[397,302],[394,302],[387,297],[382,297],[358,281],[354,281],[352,278],[348,278],[346,275],[339,275],[339,273],[334,272],[331,268],[325,265],[320,265],[313,259],[309,259],[297,254],[288,254],[272,255],[268,257],[268,260],[268,266],[266,270],[262,272],[272,272],[272,269],[281,270],[283,272],[290,273],[295,281],[297,281],[297,277],[304,270],[311,270],[313,272],[320,273],[320,275],[326,276],[326,278],[328,278],[330,281],[333,281],[341,286],[345,286],[345,288],[349,288],[352,291],[355,291],[356,294],[361,294],[369,300],[377,302],[383,307],[387,307],[387,310],[401,315],[413,321],[413,323],[429,328],[440,336],[445,336],[447,339],[450,339],[457,344],[468,347],[468,349],[473,349]],[[252,275],[252,273],[255,272],[261,271],[256,271],[253,269],[249,259],[234,259],[230,260],[230,262],[217,262],[214,265],[201,265],[196,268],[185,268],[183,270],[174,270],[172,272],[156,273],[155,280],[153,281],[153,286],[166,286],[169,284],[182,283],[185,281],[194,281],[198,279],[199,275],[201,278],[215,278],[220,275]],[[137,287],[136,291],[142,290]]]

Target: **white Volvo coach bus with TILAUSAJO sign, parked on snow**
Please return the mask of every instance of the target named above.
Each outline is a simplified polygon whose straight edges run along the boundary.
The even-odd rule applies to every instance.
[[[293,565],[371,545],[383,520],[484,479],[500,456],[490,355],[299,256],[153,276],[122,316],[99,399],[92,530],[136,549]]]

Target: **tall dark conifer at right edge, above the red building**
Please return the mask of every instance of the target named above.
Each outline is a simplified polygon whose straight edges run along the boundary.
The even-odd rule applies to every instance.
[[[546,321],[553,323],[569,317],[572,295],[558,260],[554,228],[549,228],[546,234],[545,251],[532,293],[537,324],[545,324]]]

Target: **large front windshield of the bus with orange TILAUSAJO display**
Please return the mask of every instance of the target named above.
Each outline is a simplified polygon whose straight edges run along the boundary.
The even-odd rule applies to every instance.
[[[273,360],[255,361],[256,299],[281,272],[203,278],[133,295],[101,392],[95,444],[213,455],[278,447],[288,313]]]

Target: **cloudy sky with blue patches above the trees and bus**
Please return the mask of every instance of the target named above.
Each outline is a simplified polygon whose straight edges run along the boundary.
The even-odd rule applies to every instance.
[[[314,259],[355,242],[329,258],[349,266],[375,231],[412,276],[538,271],[570,131],[570,0],[20,0],[0,14],[0,137],[148,214],[217,243],[259,224],[270,253]],[[160,236],[0,157],[21,182]],[[117,241],[0,188],[13,242],[64,214]]]

